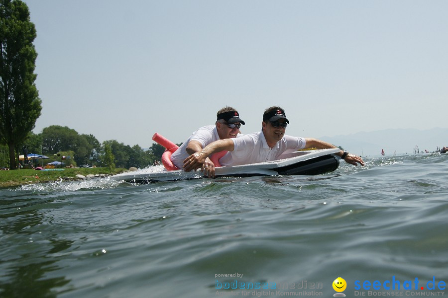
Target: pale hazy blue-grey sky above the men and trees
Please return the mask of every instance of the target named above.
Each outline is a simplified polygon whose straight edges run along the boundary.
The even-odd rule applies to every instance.
[[[448,127],[448,1],[25,0],[50,125],[149,147],[228,105],[287,134]]]

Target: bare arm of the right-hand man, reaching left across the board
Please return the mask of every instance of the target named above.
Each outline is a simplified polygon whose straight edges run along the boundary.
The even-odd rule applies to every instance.
[[[211,173],[205,165],[205,160],[213,153],[220,152],[223,150],[233,151],[234,145],[232,139],[218,140],[216,142],[210,143],[204,149],[199,152],[193,153],[184,160],[184,171],[189,172],[191,170],[197,170],[201,168],[201,172],[206,170],[205,175],[208,172],[208,176],[211,177]],[[213,173],[215,176],[215,173]]]

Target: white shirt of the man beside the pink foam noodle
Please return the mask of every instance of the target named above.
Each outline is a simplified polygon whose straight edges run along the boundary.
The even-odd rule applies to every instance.
[[[171,161],[175,166],[182,169],[184,163],[184,159],[190,156],[190,154],[185,150],[187,149],[188,143],[190,141],[195,140],[201,143],[202,148],[206,147],[212,142],[218,141],[220,136],[218,135],[218,130],[216,129],[216,125],[208,125],[201,127],[197,131],[195,131],[187,141],[185,141],[181,147],[179,147],[173,154],[171,155]]]

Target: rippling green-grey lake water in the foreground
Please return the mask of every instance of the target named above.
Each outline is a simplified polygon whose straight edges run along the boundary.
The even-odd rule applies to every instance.
[[[365,161],[1,189],[0,297],[448,297],[448,155]]]

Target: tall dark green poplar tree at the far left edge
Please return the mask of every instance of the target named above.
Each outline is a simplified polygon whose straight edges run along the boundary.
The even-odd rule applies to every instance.
[[[34,81],[36,29],[28,6],[20,0],[0,0],[0,143],[15,153],[40,116],[41,100]]]

